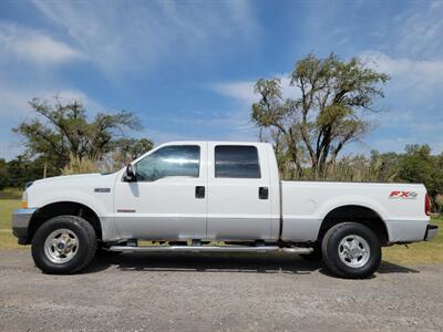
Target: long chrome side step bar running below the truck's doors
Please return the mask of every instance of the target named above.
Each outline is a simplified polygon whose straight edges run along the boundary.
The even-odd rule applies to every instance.
[[[286,253],[310,253],[312,248],[280,248],[277,246],[145,246],[145,247],[130,247],[130,246],[112,246],[110,251],[123,252],[276,252],[281,251]]]

